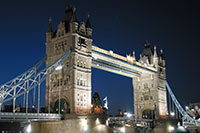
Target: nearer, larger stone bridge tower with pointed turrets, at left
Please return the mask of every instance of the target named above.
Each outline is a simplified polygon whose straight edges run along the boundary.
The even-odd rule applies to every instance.
[[[46,108],[50,112],[88,114],[91,112],[91,46],[92,28],[76,18],[75,8],[69,6],[53,31],[49,20],[46,32],[46,66],[71,50],[60,69],[46,80]]]

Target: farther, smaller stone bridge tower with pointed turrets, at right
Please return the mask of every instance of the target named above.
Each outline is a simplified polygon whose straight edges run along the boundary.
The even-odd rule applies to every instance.
[[[139,62],[145,66],[153,66],[157,74],[141,74],[133,78],[134,112],[137,118],[162,119],[167,114],[166,74],[163,51],[157,55],[156,47],[151,49],[147,41]]]

